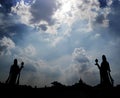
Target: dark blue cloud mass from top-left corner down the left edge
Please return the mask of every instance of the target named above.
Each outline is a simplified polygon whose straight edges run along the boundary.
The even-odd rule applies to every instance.
[[[29,27],[20,23],[18,20],[19,17],[11,13],[11,7],[15,6],[19,1],[20,0],[0,0],[0,38],[6,36],[16,42],[29,31]]]

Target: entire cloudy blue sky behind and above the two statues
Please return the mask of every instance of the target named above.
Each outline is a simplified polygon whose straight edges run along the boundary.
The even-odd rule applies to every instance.
[[[94,86],[105,54],[120,84],[119,17],[120,0],[0,0],[0,81],[17,58],[20,84]]]

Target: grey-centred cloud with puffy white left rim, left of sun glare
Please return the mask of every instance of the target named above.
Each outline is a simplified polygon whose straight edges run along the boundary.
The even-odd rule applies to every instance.
[[[56,0],[34,0],[30,3],[21,0],[16,6],[12,7],[11,11],[20,16],[20,21],[22,23],[41,28],[43,25],[46,27],[46,24],[42,24],[41,21],[47,22],[48,25],[53,23],[52,15],[55,9]]]

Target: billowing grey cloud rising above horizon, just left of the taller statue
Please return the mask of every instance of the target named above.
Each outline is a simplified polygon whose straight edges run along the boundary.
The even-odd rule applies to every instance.
[[[58,64],[61,64],[60,62]],[[94,75],[96,71],[94,67],[91,66],[90,57],[87,56],[87,52],[84,48],[75,48],[66,62],[70,63],[67,63],[68,65],[65,64],[64,68],[61,68],[62,74],[59,77],[60,82],[66,85],[72,85],[82,78],[84,82],[89,81],[89,83],[94,85],[94,76],[96,78],[98,76]],[[61,67],[61,65],[59,66]],[[93,80],[88,79],[87,76],[91,77]]]

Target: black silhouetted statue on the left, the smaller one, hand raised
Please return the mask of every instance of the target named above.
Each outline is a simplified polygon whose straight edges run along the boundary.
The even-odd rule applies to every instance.
[[[20,72],[21,72],[21,69],[23,68],[23,65],[24,65],[24,62],[22,62],[21,67],[19,67],[17,64],[17,59],[14,59],[14,64],[10,68],[9,77],[6,83],[10,85],[19,84]]]

